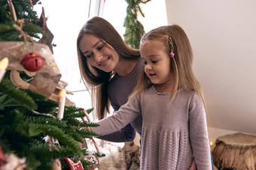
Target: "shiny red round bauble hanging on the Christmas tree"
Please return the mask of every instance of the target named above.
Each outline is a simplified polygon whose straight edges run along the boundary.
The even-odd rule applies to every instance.
[[[20,64],[22,64],[26,70],[34,72],[40,70],[44,66],[44,58],[36,52],[29,52],[23,56]]]

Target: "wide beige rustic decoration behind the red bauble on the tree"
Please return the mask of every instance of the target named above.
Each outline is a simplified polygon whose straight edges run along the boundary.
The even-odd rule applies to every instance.
[[[50,97],[58,84],[61,73],[54,61],[53,54],[49,47],[41,43],[25,43],[25,42],[0,42],[0,59],[3,56],[8,56],[9,64],[7,70],[27,71],[20,61],[23,56],[29,52],[37,52],[44,59],[44,67],[38,70],[33,76],[31,82],[29,82],[29,90],[36,91],[40,94],[44,94],[46,97]]]

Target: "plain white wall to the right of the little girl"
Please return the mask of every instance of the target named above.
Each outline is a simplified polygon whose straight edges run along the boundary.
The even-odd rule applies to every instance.
[[[209,127],[256,134],[256,1],[166,0],[169,24],[186,31]]]

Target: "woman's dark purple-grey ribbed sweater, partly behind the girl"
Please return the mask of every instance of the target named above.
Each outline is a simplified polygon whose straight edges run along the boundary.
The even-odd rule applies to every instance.
[[[125,66],[124,66],[125,67]],[[118,76],[114,74],[113,78],[108,83],[108,97],[114,111],[117,111],[120,106],[123,106],[128,101],[130,94],[138,83],[140,73],[143,71],[142,58],[139,58],[134,69],[127,76]],[[101,136],[99,139],[104,139],[111,142],[130,142],[136,136],[135,130],[139,135],[142,133],[142,116],[139,116],[121,130],[106,136]]]

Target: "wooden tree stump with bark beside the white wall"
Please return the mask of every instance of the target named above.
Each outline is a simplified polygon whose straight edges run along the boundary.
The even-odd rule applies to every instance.
[[[216,139],[212,151],[218,169],[256,169],[256,136],[234,133]]]

